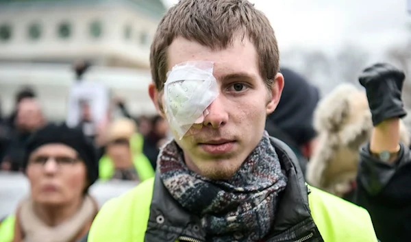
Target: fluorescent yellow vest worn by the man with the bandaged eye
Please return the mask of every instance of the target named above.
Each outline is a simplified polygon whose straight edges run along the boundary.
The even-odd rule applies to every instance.
[[[143,242],[149,221],[154,179],[116,197],[101,208],[88,242]],[[355,204],[311,187],[314,222],[325,242],[377,242],[369,213]]]

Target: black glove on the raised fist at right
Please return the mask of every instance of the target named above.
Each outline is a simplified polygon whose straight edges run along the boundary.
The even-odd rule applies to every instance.
[[[401,100],[405,77],[403,71],[394,66],[379,63],[365,69],[358,78],[366,89],[374,125],[386,119],[406,116]]]

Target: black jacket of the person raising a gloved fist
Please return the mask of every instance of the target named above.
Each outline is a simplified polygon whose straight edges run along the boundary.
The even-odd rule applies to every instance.
[[[360,151],[355,202],[366,208],[382,242],[411,241],[411,154],[401,145],[393,164]]]

